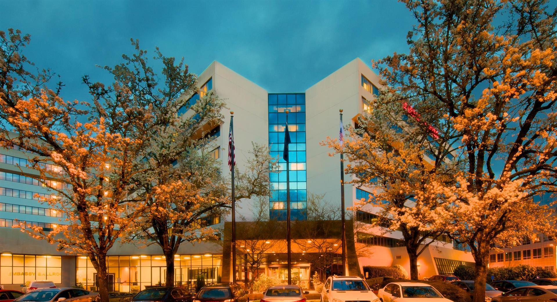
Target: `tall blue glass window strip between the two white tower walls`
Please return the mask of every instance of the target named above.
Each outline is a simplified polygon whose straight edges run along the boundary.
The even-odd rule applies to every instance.
[[[306,220],[306,95],[305,93],[269,93],[269,148],[271,156],[279,157],[280,172],[271,173],[269,215],[286,220],[286,162],[282,159],[286,110],[289,110],[290,132],[290,219]]]

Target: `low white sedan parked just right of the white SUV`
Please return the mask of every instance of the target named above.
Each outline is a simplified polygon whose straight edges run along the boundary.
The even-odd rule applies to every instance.
[[[389,283],[377,293],[381,302],[452,302],[425,283]]]

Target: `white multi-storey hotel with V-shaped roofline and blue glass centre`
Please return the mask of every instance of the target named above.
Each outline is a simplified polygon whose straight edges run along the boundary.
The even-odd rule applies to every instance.
[[[199,92],[192,96],[192,101],[214,90],[226,100],[229,110],[234,111],[236,162],[240,170],[250,157],[251,142],[268,144],[271,155],[281,155],[285,110],[290,110],[288,122],[292,143],[289,148],[289,177],[293,220],[306,220],[307,192],[323,194],[324,200],[340,203],[339,158],[330,157],[330,150],[319,143],[328,136],[338,137],[340,108],[344,110],[344,124],[354,125],[357,117],[369,109],[368,100],[379,93],[379,78],[364,62],[356,58],[306,91],[296,93],[268,92],[216,61],[199,75],[198,82]],[[192,113],[183,110],[179,114],[187,116]],[[223,158],[222,171],[228,171],[228,109],[223,115],[223,124],[207,131],[215,137],[219,146],[213,150],[213,155]],[[0,284],[6,289],[18,289],[28,280],[48,279],[59,286],[80,284],[94,290],[96,272],[86,256],[65,254],[57,251],[55,245],[32,239],[11,228],[14,219],[32,222],[45,230],[63,223],[60,212],[48,209],[34,197],[37,193],[48,194],[48,190],[28,177],[36,173],[25,167],[27,158],[27,152],[22,150],[0,150]],[[281,160],[280,172],[270,177],[270,216],[282,220],[286,217],[286,163]],[[345,175],[346,180],[350,177]],[[345,186],[347,207],[352,206],[356,199],[368,195],[369,192],[363,188]],[[250,200],[240,202],[242,209],[250,209],[250,204]],[[364,265],[400,264],[409,270],[408,255],[400,240],[402,233],[383,234],[368,224],[373,221],[376,212],[372,206],[365,206],[355,215],[364,227],[352,232],[355,233],[353,237],[348,236],[354,239],[347,244],[350,274],[361,273]],[[213,219],[210,224],[223,227],[224,221],[230,221],[229,215]],[[368,246],[370,251],[358,255],[355,251],[363,245]],[[207,282],[231,280],[229,247],[224,246],[223,249],[221,245],[208,242],[182,244],[175,258],[176,283],[193,286],[199,275],[203,275]],[[263,265],[261,273],[280,278],[286,264],[278,258]],[[340,261],[336,259],[336,262]],[[456,266],[472,262],[470,253],[453,249],[452,242],[443,239],[434,242],[419,256],[418,270],[420,277],[425,278],[452,273]],[[109,251],[108,267],[110,290],[139,291],[145,286],[165,282],[165,260],[157,245],[138,249],[131,244],[116,244]],[[307,287],[315,269],[311,263],[304,261],[298,262],[296,267],[296,273]],[[328,274],[332,273],[328,271]],[[238,279],[242,278],[240,273]]]

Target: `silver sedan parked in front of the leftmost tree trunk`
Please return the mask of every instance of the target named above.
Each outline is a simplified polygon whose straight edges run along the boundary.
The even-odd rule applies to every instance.
[[[99,293],[79,288],[48,288],[31,291],[20,296],[14,302],[95,302],[99,299]]]

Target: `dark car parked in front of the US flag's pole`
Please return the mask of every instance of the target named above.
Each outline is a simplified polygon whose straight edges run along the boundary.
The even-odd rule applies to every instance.
[[[236,283],[203,286],[193,302],[249,302],[247,293]]]

